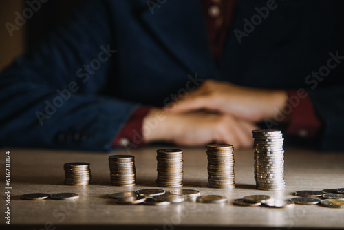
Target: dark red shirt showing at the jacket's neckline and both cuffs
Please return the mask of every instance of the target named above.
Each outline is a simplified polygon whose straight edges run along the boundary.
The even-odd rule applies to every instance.
[[[202,0],[206,29],[211,52],[217,63],[222,55],[224,42],[228,28],[232,23],[235,6],[239,0]],[[286,134],[302,137],[314,137],[319,134],[323,124],[313,107],[312,101],[307,96],[299,98],[299,103],[292,103],[292,98],[297,96],[297,90],[287,90],[288,105],[290,108],[290,121]],[[144,144],[142,137],[142,122],[149,113],[151,106],[142,106],[134,112],[125,126],[121,129],[114,140],[114,146],[137,147]]]

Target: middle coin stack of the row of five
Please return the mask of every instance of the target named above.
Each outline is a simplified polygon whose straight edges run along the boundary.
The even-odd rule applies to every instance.
[[[158,177],[156,184],[160,187],[182,187],[183,151],[180,149],[158,149]]]

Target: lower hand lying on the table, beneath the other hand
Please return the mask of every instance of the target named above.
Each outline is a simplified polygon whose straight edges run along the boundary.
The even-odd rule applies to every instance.
[[[157,117],[160,117],[159,121]],[[155,125],[149,125],[151,123]],[[259,129],[251,122],[237,120],[227,114],[208,112],[170,114],[161,109],[152,109],[144,118],[142,126],[144,140],[148,143],[164,141],[191,146],[215,142],[227,143],[236,148],[252,147],[251,131]]]

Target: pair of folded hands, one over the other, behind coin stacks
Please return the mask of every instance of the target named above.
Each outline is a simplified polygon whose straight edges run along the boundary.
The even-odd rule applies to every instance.
[[[196,90],[162,109],[152,109],[144,118],[143,136],[147,142],[168,141],[177,145],[228,143],[251,147],[256,123],[274,114],[286,104],[283,90],[241,87],[224,81],[207,80]],[[164,114],[154,130],[146,124]]]

